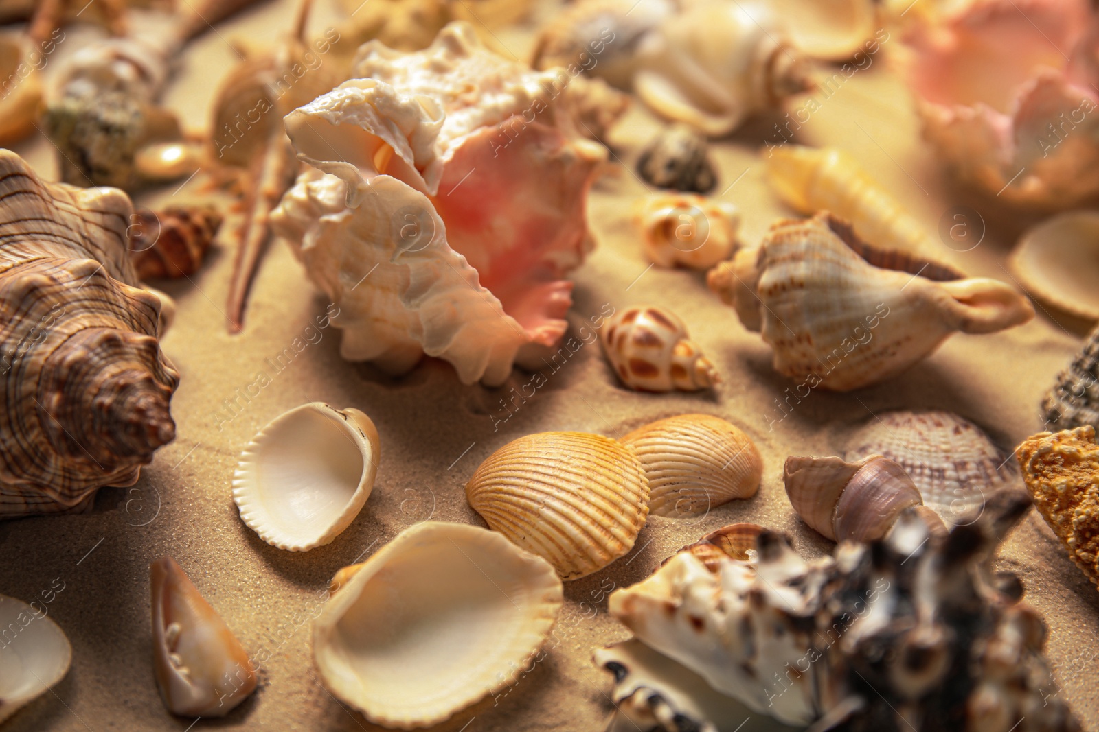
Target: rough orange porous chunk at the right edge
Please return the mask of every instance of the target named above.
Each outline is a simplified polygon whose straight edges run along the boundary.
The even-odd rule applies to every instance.
[[[1090,425],[1039,432],[1015,448],[1034,507],[1068,558],[1099,585],[1099,446]]]

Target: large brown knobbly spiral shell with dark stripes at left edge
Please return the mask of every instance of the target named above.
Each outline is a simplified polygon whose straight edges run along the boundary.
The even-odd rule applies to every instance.
[[[81,510],[175,437],[160,300],[122,191],[43,182],[0,150],[0,518]]]

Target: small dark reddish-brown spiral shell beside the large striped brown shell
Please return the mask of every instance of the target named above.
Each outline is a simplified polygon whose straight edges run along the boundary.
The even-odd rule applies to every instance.
[[[222,215],[211,206],[138,209],[126,228],[137,277],[178,278],[199,271]]]

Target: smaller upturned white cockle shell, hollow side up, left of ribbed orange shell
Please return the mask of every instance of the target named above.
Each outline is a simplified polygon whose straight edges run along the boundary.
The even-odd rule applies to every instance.
[[[233,500],[268,544],[292,552],[323,547],[363,509],[379,455],[369,417],[310,402],[252,439],[233,475]]]

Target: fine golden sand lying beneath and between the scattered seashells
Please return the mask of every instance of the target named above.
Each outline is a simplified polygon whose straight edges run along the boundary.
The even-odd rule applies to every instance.
[[[169,93],[187,123],[207,119],[209,91],[231,66],[224,40],[249,29],[269,38],[289,16],[289,1],[270,2],[196,43]],[[320,33],[334,18],[318,3],[312,26]],[[519,55],[529,31],[501,33]],[[1021,217],[997,202],[959,191],[919,142],[909,95],[887,68],[897,41],[884,44],[873,64],[854,75],[797,131],[797,139],[848,149],[926,226],[937,229],[952,206],[972,205],[988,224],[975,249],[943,255],[974,274],[1008,279],[1004,258]],[[798,103],[796,106],[800,106]],[[769,223],[789,215],[768,192],[757,150],[780,142],[777,115],[756,121],[714,145],[720,168],[717,193],[743,212],[743,239],[757,241]],[[338,357],[340,334],[319,331],[271,383],[225,419],[234,399],[268,370],[273,358],[302,336],[328,304],[306,280],[286,247],[264,259],[247,313],[247,327],[229,336],[222,311],[232,252],[213,252],[202,271],[166,289],[177,299],[176,324],[163,348],[181,382],[173,399],[178,433],[156,453],[131,488],[103,488],[90,514],[0,522],[0,590],[30,600],[63,585],[49,617],[68,634],[73,668],[7,724],[10,732],[76,730],[288,731],[371,730],[318,683],[310,653],[310,617],[319,595],[340,567],[369,555],[402,529],[428,518],[481,525],[465,502],[463,485],[478,463],[506,442],[544,430],[585,430],[609,436],[648,420],[706,412],[734,421],[764,458],[758,494],[690,520],[653,518],[635,549],[622,560],[565,587],[560,632],[550,653],[510,690],[457,713],[440,730],[601,730],[611,712],[610,675],[591,663],[592,647],[628,633],[607,612],[607,594],[645,577],[668,554],[725,523],[754,521],[788,532],[807,556],[830,551],[793,516],[781,484],[789,454],[832,454],[847,430],[898,408],[953,409],[985,427],[1006,449],[1041,426],[1043,391],[1080,344],[1086,324],[1051,317],[1039,308],[1028,325],[990,336],[955,336],[903,376],[850,394],[813,391],[784,419],[775,399],[792,382],[770,368],[758,335],[747,333],[732,309],[704,286],[700,274],[648,268],[631,228],[631,205],[644,191],[633,173],[639,146],[657,122],[637,105],[613,131],[613,166],[595,188],[588,217],[598,244],[575,273],[574,330],[610,303],[615,308],[653,303],[673,308],[724,376],[714,393],[637,394],[621,387],[596,346],[586,346],[506,423],[500,399],[531,375],[517,371],[509,384],[464,386],[448,364],[425,361],[401,379]],[[48,177],[56,176],[48,143],[19,151]],[[624,164],[624,165],[618,165]],[[170,195],[169,188],[163,196]],[[314,337],[315,340],[315,337]],[[255,393],[253,391],[252,393]],[[332,544],[308,553],[264,543],[237,516],[230,496],[236,455],[265,423],[309,401],[354,406],[371,416],[381,435],[381,463],[374,493],[358,518]],[[219,415],[221,415],[219,417]],[[167,713],[153,680],[148,564],[174,556],[255,657],[265,658],[253,697],[224,720]],[[1058,686],[1047,690],[1072,703],[1086,729],[1099,729],[1099,594],[1070,564],[1036,514],[1002,550],[1000,564],[1020,574],[1026,599],[1048,624],[1048,655]],[[752,724],[763,722],[755,718]],[[748,729],[748,728],[745,728]]]

